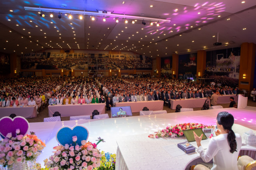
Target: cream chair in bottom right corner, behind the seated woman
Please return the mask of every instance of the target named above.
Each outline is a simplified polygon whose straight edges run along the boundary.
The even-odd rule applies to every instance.
[[[250,156],[240,156],[237,161],[239,170],[251,170],[256,167],[256,160],[253,160]]]

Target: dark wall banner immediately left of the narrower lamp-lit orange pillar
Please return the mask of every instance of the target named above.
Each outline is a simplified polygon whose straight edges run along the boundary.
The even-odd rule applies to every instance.
[[[196,63],[197,53],[179,55],[178,78],[194,80],[196,78]]]

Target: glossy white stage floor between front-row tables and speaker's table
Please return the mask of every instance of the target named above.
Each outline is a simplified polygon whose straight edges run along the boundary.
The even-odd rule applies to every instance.
[[[253,108],[250,107],[250,109]],[[229,113],[232,113],[236,124],[256,130],[256,110],[223,108],[97,120],[30,123],[30,131],[35,132],[42,141],[46,142],[46,148],[37,159],[39,163],[44,165],[43,160],[48,158],[52,154],[52,151],[54,151],[52,148],[58,145],[55,138],[56,132],[64,125],[70,127],[77,124],[84,125],[89,131],[88,141],[96,143],[95,140],[98,137],[101,137],[106,142],[100,143],[98,148],[105,152],[116,153],[118,148],[117,141],[123,137],[139,135],[147,140],[149,134],[164,129],[166,126],[176,125],[178,123],[194,122],[216,125],[216,116],[220,111],[228,111]],[[247,130],[247,128],[244,129]],[[157,142],[158,139],[152,140]]]

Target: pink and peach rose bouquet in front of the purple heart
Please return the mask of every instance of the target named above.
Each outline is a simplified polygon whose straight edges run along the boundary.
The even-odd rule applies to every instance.
[[[36,160],[44,147],[45,144],[34,132],[30,132],[30,135],[20,135],[20,129],[16,129],[16,137],[8,133],[6,138],[0,141],[0,165],[6,167],[25,160]]]

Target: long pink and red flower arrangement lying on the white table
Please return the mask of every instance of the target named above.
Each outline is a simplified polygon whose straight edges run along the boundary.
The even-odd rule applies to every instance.
[[[160,137],[180,137],[183,135],[182,130],[187,130],[187,129],[197,129],[197,128],[205,128],[205,129],[210,129],[210,128],[215,128],[215,126],[208,126],[208,125],[203,125],[202,123],[181,123],[178,125],[174,125],[171,127],[166,127],[166,129],[162,129],[162,131],[155,132],[156,134],[154,135],[148,135],[149,138],[160,138]]]

